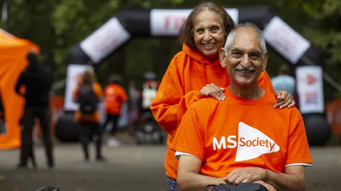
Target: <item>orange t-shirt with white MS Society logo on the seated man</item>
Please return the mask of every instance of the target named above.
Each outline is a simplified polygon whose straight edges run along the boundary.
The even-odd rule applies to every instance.
[[[281,173],[285,166],[313,163],[297,108],[275,110],[274,93],[255,100],[229,88],[225,94],[225,101],[201,99],[188,108],[171,146],[176,156],[200,158],[200,174],[217,178],[247,166]]]

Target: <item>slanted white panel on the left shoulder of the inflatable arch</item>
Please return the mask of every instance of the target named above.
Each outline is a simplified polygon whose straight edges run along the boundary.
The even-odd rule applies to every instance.
[[[130,37],[131,35],[114,17],[80,42],[80,47],[92,62],[98,63],[128,41]]]

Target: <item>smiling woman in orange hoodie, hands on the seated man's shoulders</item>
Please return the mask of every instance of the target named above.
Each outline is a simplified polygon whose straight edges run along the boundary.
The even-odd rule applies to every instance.
[[[165,168],[168,191],[177,190],[178,160],[169,149],[178,125],[188,106],[200,98],[213,96],[224,100],[223,88],[229,76],[220,66],[219,50],[224,47],[234,22],[222,6],[204,2],[194,8],[180,28],[183,51],[178,52],[163,76],[151,110],[159,125],[168,133]],[[264,71],[258,79],[265,91],[274,92],[269,75]],[[286,91],[274,92],[278,98],[274,108],[293,107],[293,97]]]

